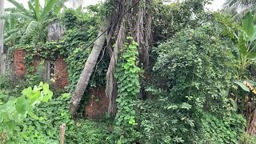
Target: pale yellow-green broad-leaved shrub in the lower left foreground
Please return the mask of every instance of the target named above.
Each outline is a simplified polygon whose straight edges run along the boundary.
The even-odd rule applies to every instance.
[[[48,102],[52,96],[53,92],[49,90],[49,85],[40,82],[39,86],[22,90],[22,96],[10,97],[8,102],[0,104],[0,142],[20,142],[20,130],[26,125],[24,120],[27,119],[27,115],[38,120],[33,107],[40,102]]]

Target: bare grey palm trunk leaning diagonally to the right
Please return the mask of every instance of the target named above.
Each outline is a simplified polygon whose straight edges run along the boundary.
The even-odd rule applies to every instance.
[[[109,22],[107,20],[105,22],[102,22],[102,26],[100,27],[100,30],[98,31],[98,37],[103,33],[104,30],[106,30],[106,25]],[[106,40],[106,34],[102,34],[95,42],[93,49],[90,52],[89,57],[86,60],[86,64],[84,69],[82,70],[82,74],[80,75],[80,78],[78,79],[78,84],[74,90],[74,94],[72,94],[71,98],[71,104],[70,104],[70,113],[76,114],[78,110],[78,105],[81,101],[82,95],[84,94],[86,87],[88,85],[88,82],[90,80],[90,75],[92,74],[92,71],[94,70],[94,67],[97,63],[98,56],[102,51],[102,47],[104,46]]]

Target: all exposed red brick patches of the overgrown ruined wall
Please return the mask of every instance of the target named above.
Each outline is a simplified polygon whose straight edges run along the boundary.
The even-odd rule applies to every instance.
[[[31,66],[34,66],[34,72],[40,61],[34,58]],[[64,89],[68,86],[68,71],[66,62],[59,57],[55,62],[54,71],[56,75],[54,87]],[[20,78],[26,74],[25,53],[22,49],[14,51],[14,76]],[[86,106],[86,116],[88,118],[101,118],[107,112],[109,101],[106,98],[105,87],[90,88],[89,104]]]

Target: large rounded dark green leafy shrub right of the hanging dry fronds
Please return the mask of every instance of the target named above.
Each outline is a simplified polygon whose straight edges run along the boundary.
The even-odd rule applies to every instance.
[[[236,60],[217,33],[211,25],[182,30],[158,46],[154,70],[166,80],[162,83],[177,102],[189,101],[194,110],[222,115],[231,109],[227,90],[234,79]]]

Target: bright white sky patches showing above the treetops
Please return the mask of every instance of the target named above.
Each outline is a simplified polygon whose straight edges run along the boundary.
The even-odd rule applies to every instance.
[[[18,2],[22,3],[24,6],[27,7],[27,1],[28,0],[18,0]],[[72,1],[74,0],[70,0],[71,2],[67,2],[66,6],[67,7],[71,7]],[[41,3],[44,2],[44,0],[40,0]],[[89,5],[94,5],[97,2],[100,2],[100,0],[83,0],[83,6],[89,6]],[[223,3],[225,2],[225,0],[214,0],[214,2],[210,5],[210,6],[206,6],[208,9],[210,10],[219,10],[222,8]],[[12,7],[13,5],[10,4],[10,2],[5,1],[5,8],[6,7]]]

